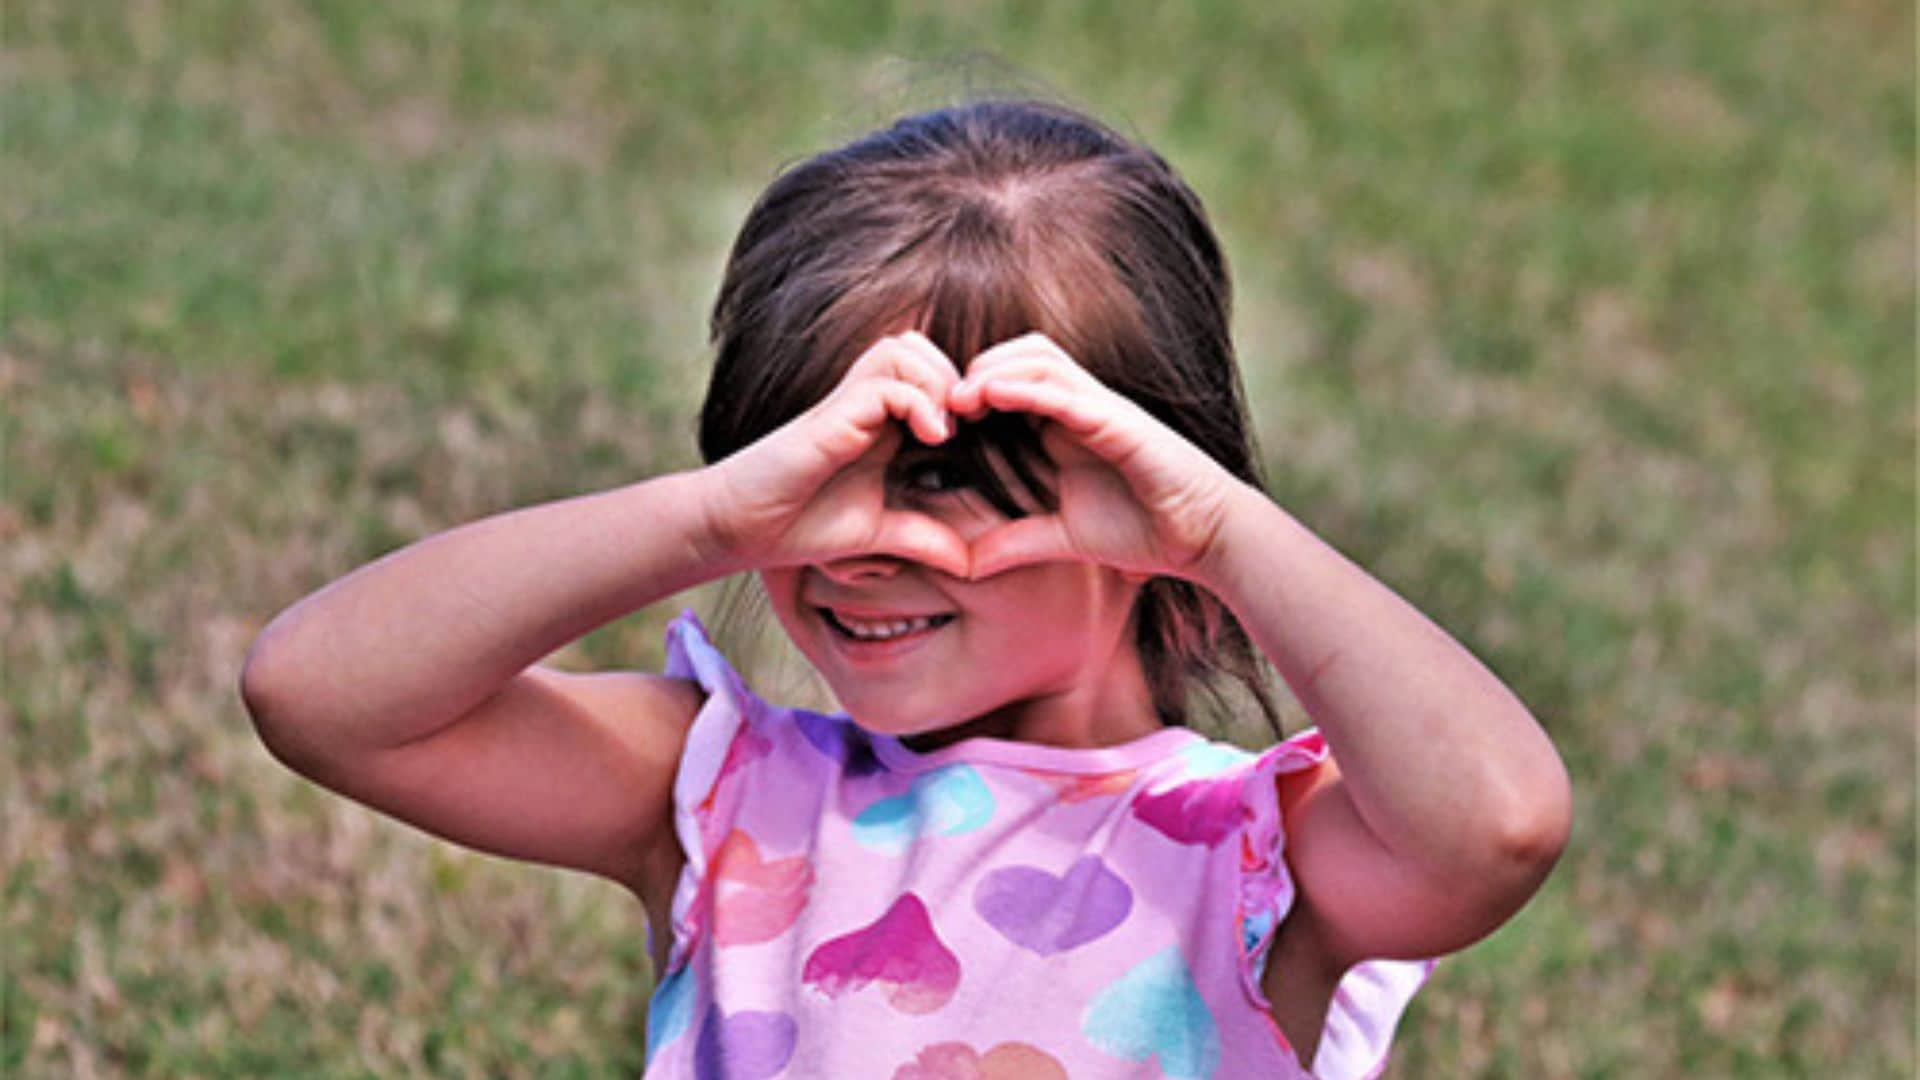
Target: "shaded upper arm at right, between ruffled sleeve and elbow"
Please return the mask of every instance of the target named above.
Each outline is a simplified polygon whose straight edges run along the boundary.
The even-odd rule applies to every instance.
[[[1340,767],[1325,757],[1277,778],[1284,857],[1302,922],[1338,969],[1357,961],[1423,959],[1478,942],[1538,888],[1459,888],[1390,851],[1367,828]],[[1544,876],[1546,869],[1540,871]]]

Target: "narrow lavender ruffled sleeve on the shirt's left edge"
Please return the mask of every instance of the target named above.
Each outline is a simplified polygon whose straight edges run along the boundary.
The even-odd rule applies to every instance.
[[[666,675],[693,678],[707,701],[687,728],[674,776],[674,834],[685,869],[674,886],[674,947],[668,972],[678,970],[699,942],[705,905],[697,903],[707,867],[739,813],[741,784],[730,782],[753,757],[766,753],[758,728],[772,707],[747,690],[739,673],[707,640],[707,626],[691,607],[666,625]]]

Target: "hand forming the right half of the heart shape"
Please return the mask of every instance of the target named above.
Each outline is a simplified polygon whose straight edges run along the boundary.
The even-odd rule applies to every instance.
[[[1060,509],[998,525],[972,544],[972,577],[1050,559],[1196,578],[1244,484],[1198,446],[1116,394],[1041,332],[1000,342],[947,392],[962,419],[989,409],[1043,421]]]

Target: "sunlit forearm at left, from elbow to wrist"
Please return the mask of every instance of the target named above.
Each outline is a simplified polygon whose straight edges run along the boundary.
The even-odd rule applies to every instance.
[[[246,659],[255,723],[292,746],[397,746],[438,730],[588,630],[735,567],[670,473],[438,532],[282,611]]]

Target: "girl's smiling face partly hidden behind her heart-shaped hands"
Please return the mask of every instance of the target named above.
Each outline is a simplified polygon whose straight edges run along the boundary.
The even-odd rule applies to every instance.
[[[910,446],[889,473],[899,475],[889,498],[970,542],[1006,521],[937,450]],[[1060,561],[970,582],[862,555],[760,580],[787,636],[868,730],[927,734],[925,744],[991,734],[1112,746],[1160,726],[1133,646],[1139,577]],[[893,634],[908,619],[893,640],[858,636]]]

